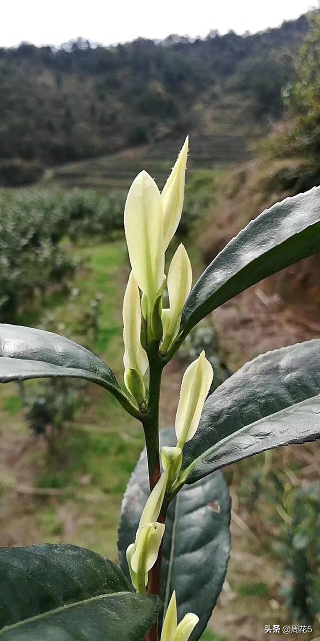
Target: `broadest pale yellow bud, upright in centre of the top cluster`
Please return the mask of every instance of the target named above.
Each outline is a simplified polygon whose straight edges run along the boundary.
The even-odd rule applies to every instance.
[[[129,189],[124,228],[132,271],[152,308],[164,279],[163,207],[159,189],[146,171]]]

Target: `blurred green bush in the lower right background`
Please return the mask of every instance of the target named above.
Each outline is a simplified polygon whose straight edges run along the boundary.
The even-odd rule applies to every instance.
[[[266,506],[264,524],[282,566],[285,585],[280,592],[285,605],[292,620],[313,624],[320,612],[320,485],[300,488],[296,484],[288,470],[281,474],[270,469],[264,474],[259,467],[246,476],[238,495],[253,514],[259,501]],[[266,543],[261,531],[259,538]]]

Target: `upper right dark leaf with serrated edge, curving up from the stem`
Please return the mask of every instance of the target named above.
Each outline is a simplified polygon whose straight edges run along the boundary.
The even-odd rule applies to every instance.
[[[262,212],[205,269],[182,314],[182,335],[251,285],[320,251],[320,187]]]

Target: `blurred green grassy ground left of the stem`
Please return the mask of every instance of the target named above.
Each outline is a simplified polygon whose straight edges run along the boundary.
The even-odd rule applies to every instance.
[[[122,298],[127,276],[124,241],[70,249],[79,260],[72,281],[77,295],[47,297],[28,320],[42,326],[44,313],[50,310],[55,327],[49,329],[90,347],[108,363],[122,384]],[[99,331],[92,341],[83,336],[82,319],[98,292],[102,295]],[[34,385],[30,381],[26,387]],[[79,388],[79,395],[81,408],[74,423],[58,439],[54,456],[48,458],[44,447],[33,447],[22,463],[22,468],[27,465],[35,471],[33,485],[52,490],[54,495],[30,508],[30,527],[35,520],[31,536],[33,542],[72,540],[116,560],[120,504],[143,448],[143,434],[138,422],[102,388],[85,384]],[[24,427],[21,400],[14,384],[2,388],[1,401],[2,425],[26,435],[28,442],[31,437]]]

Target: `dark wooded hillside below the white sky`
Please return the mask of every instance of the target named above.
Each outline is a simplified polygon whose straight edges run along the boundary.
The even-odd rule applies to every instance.
[[[60,49],[0,49],[2,184],[37,179],[45,166],[126,147],[195,136],[246,135],[282,115],[287,54],[307,18],[255,35],[115,47],[79,38]]]

